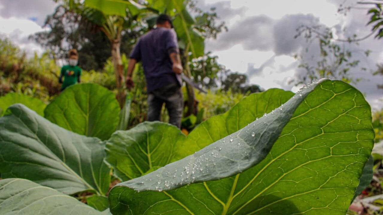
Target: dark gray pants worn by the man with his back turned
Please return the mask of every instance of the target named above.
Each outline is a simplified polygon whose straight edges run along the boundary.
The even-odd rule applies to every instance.
[[[177,84],[164,86],[163,88],[152,91],[148,94],[147,121],[159,121],[162,106],[169,113],[169,123],[181,127],[183,96],[181,88]]]

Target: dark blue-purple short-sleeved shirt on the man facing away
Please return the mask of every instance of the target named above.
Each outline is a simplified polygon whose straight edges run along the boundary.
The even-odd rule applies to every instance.
[[[177,34],[173,29],[156,28],[142,36],[130,54],[142,62],[148,93],[172,83],[182,84],[180,75],[173,72],[169,50],[178,52]]]

